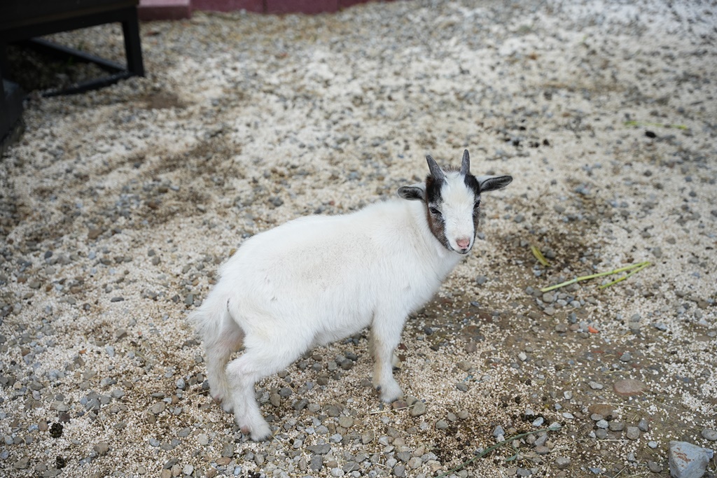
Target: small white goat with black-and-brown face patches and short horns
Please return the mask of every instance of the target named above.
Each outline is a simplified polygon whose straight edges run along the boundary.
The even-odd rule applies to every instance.
[[[473,176],[467,150],[460,171],[427,161],[426,181],[399,188],[403,199],[295,219],[248,239],[219,269],[191,318],[204,339],[212,396],[253,440],[272,433],[255,401],[257,381],[369,326],[374,386],[383,401],[402,397],[391,359],[406,317],[473,247],[480,193],[513,180]]]

